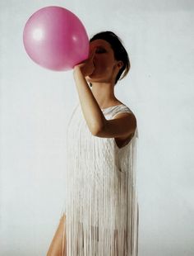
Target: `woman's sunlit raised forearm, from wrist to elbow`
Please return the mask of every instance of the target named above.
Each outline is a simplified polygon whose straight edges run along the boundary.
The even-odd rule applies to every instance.
[[[85,117],[85,121],[90,132],[93,135],[96,135],[99,130],[103,128],[105,117],[79,67],[74,69],[73,77],[76,82],[76,89],[81,102],[81,109]]]

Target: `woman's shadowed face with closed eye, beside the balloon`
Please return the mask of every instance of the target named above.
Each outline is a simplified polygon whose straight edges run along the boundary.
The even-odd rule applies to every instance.
[[[114,59],[111,45],[106,40],[94,40],[90,42],[90,52],[95,49],[95,70],[86,77],[87,82],[111,82],[115,81],[121,66],[121,61]],[[120,63],[120,64],[119,64]]]

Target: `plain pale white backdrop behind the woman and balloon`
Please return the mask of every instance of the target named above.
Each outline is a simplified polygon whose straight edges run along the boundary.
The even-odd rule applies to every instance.
[[[139,256],[193,256],[192,0],[1,0],[0,255],[46,255],[62,211],[78,95],[72,71],[41,68],[22,42],[27,19],[50,5],[74,12],[88,36],[114,31],[131,59],[115,94],[138,122]]]

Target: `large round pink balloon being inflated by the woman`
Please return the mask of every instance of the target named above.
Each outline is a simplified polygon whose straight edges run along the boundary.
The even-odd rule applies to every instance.
[[[73,69],[89,56],[85,27],[75,14],[63,7],[44,7],[25,24],[25,50],[36,64],[46,69]]]

